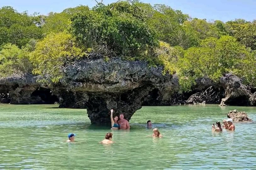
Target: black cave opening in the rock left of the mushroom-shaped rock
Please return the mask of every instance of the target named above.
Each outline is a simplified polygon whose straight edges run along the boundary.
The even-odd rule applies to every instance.
[[[59,102],[59,99],[56,95],[53,94],[51,89],[37,88],[32,94],[31,98],[40,97],[42,100],[42,103],[44,104],[54,104],[55,102]]]

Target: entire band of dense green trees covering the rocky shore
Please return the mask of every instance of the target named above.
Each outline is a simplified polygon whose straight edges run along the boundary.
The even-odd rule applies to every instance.
[[[120,57],[163,66],[163,74],[179,76],[184,91],[197,78],[218,82],[224,73],[256,86],[256,22],[207,22],[138,0],[78,6],[47,16],[2,7],[0,50],[1,77],[33,72],[58,82],[67,62],[93,53],[106,62]]]

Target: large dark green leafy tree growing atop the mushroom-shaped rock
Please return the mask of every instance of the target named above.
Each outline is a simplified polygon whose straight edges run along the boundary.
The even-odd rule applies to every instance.
[[[143,15],[131,14],[134,9],[128,2],[119,2],[79,13],[71,19],[72,32],[80,46],[100,53],[104,48],[103,54],[107,56],[143,55],[158,41],[143,21]]]

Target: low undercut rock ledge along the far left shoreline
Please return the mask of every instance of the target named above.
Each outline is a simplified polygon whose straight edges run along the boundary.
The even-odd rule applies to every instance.
[[[10,104],[53,104],[58,98],[50,89],[37,83],[37,76],[26,74],[0,79],[1,103]]]

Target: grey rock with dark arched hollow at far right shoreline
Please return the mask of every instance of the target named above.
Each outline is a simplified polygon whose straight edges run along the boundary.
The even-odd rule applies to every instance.
[[[222,104],[232,106],[255,106],[256,93],[249,86],[242,83],[242,80],[232,74],[221,77],[220,84],[225,89],[225,98]]]

